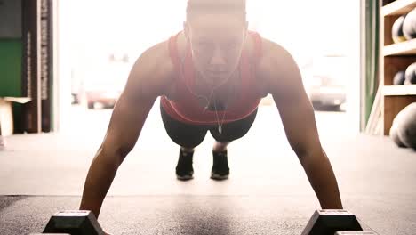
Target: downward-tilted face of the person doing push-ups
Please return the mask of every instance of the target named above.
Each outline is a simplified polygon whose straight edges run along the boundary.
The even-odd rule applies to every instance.
[[[202,14],[184,23],[196,69],[210,85],[222,85],[237,69],[247,22],[225,13]]]

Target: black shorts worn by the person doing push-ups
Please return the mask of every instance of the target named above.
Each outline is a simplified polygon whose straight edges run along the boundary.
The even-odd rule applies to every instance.
[[[221,134],[218,132],[217,125],[192,125],[173,119],[162,105],[160,105],[160,112],[164,121],[164,129],[172,141],[185,148],[194,148],[204,141],[207,131],[210,131],[217,142],[232,142],[243,137],[252,127],[257,109],[246,118],[224,124]]]

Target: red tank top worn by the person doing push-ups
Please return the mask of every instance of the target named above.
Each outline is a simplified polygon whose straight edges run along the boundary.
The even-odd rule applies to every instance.
[[[180,57],[177,47],[177,37],[169,39],[169,54],[172,63],[177,71],[175,77],[175,101],[169,100],[166,96],[160,99],[161,105],[166,113],[172,118],[193,125],[216,125],[219,121],[223,124],[245,118],[259,106],[260,100],[264,95],[260,93],[260,85],[256,83],[254,76],[255,64],[260,58],[261,38],[256,32],[249,32],[249,36],[254,41],[254,58],[248,58],[248,52],[243,50],[239,61],[241,85],[236,90],[236,102],[231,103],[228,109],[215,110],[204,109],[199,105],[197,97],[189,91],[195,85],[195,70],[192,62],[190,50],[183,61],[181,68]],[[225,112],[225,113],[224,113]],[[218,119],[220,118],[220,120]]]

